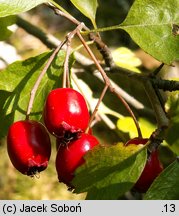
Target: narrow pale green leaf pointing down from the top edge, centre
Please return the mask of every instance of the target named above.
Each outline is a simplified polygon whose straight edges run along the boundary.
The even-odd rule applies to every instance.
[[[96,18],[96,10],[98,7],[97,0],[70,0],[74,6],[86,17],[88,17],[93,23],[94,27],[96,27],[95,18]]]

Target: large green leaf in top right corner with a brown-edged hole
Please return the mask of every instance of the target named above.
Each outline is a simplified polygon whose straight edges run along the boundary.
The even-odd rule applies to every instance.
[[[166,64],[179,59],[178,0],[136,0],[120,25],[147,53]]]

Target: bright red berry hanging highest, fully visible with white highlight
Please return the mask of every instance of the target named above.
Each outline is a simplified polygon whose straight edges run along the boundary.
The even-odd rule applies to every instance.
[[[49,132],[59,138],[63,138],[65,133],[84,132],[90,119],[84,97],[71,88],[52,90],[43,115]]]

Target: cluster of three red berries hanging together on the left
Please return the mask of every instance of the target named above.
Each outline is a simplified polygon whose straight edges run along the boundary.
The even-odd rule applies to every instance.
[[[51,155],[48,130],[56,137],[59,181],[71,186],[76,168],[84,163],[83,156],[99,144],[93,135],[85,133],[90,119],[86,102],[72,88],[54,89],[47,96],[43,118],[46,127],[33,120],[10,126],[7,136],[10,160],[25,175],[33,176],[46,169]]]

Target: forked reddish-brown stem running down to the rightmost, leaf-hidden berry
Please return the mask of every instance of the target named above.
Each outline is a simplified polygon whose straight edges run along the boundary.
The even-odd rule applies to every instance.
[[[128,105],[128,103],[124,100],[124,98],[115,90],[115,88],[112,86],[111,82],[110,82],[110,79],[108,78],[108,76],[106,75],[105,71],[103,70],[103,68],[101,67],[101,65],[99,64],[98,60],[96,59],[95,55],[93,54],[92,50],[90,49],[90,47],[88,46],[88,44],[85,42],[85,40],[83,39],[82,35],[80,34],[80,32],[77,32],[77,35],[79,37],[79,39],[81,40],[82,44],[84,45],[86,51],[88,52],[88,54],[90,55],[90,57],[92,58],[92,60],[94,61],[96,67],[98,68],[99,72],[101,73],[102,77],[103,77],[103,80],[105,82],[105,88],[103,89],[103,92],[100,96],[100,98],[103,98],[104,97],[104,94],[106,93],[106,90],[110,89],[111,92],[113,92],[119,99],[120,101],[123,103],[123,105],[125,106],[125,108],[127,109],[127,111],[129,112],[130,116],[132,117],[134,123],[135,123],[135,126],[136,126],[136,129],[137,129],[137,132],[138,132],[138,137],[141,137],[142,138],[142,133],[141,133],[141,129],[140,129],[140,126],[139,126],[139,123],[132,111],[132,109],[130,108],[130,106]],[[99,103],[101,102],[101,99],[99,99],[98,101]],[[97,108],[99,107],[99,104],[97,104]],[[96,114],[96,110],[94,110],[95,114]],[[93,114],[92,114],[93,116]]]

